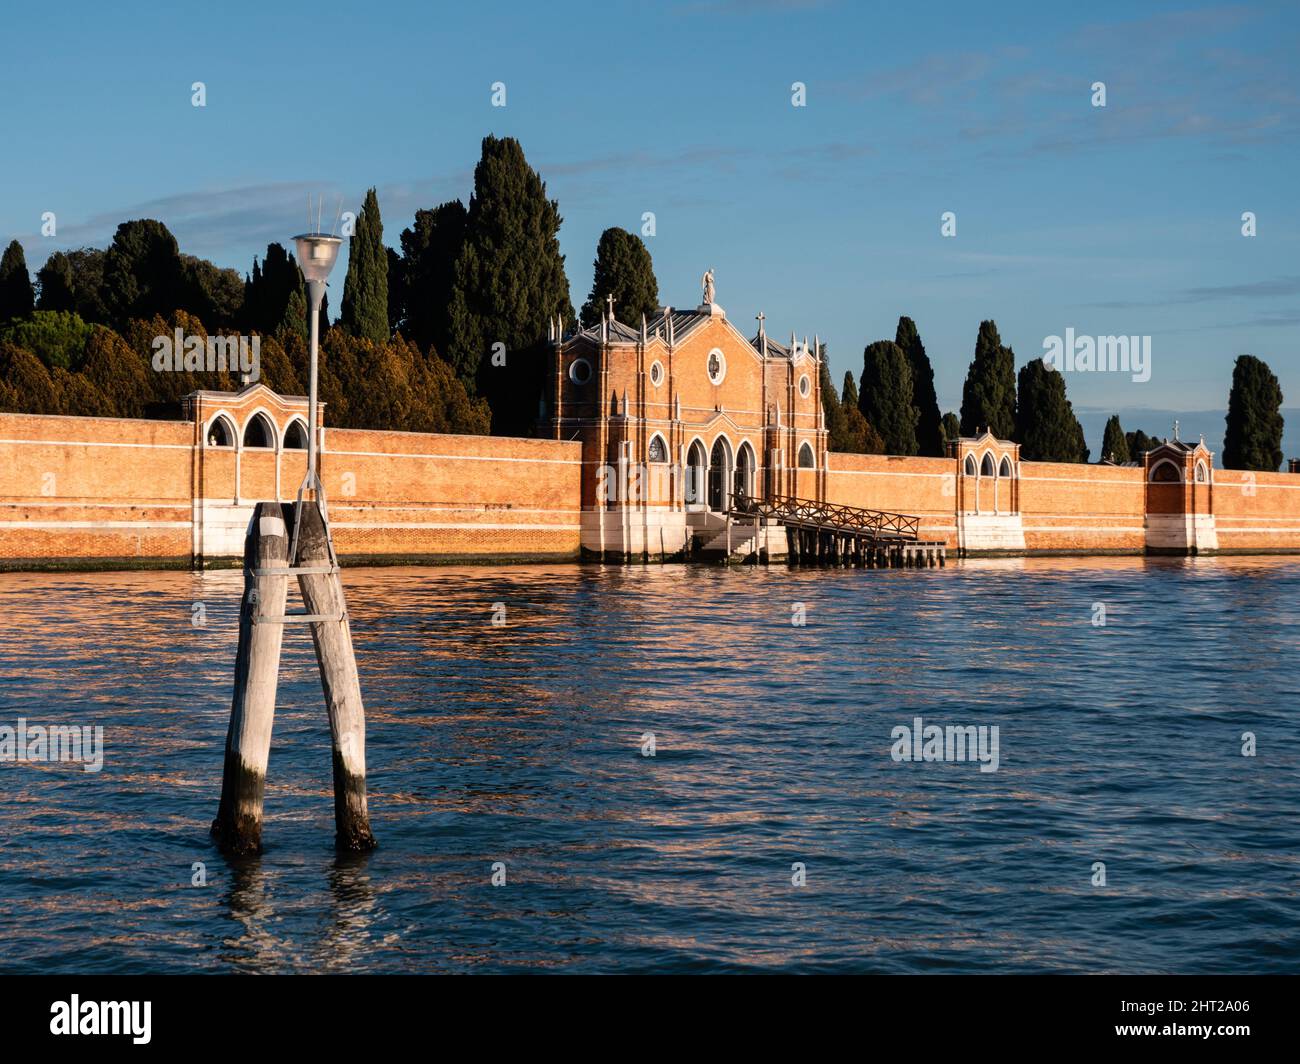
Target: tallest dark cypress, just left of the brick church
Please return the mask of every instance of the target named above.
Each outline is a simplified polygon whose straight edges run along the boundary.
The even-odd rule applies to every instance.
[[[494,432],[536,418],[546,323],[573,320],[560,221],[519,142],[485,137],[452,281],[447,352],[465,390],[491,403]],[[495,343],[504,346],[504,363],[490,358]]]

